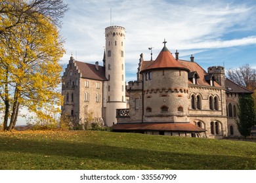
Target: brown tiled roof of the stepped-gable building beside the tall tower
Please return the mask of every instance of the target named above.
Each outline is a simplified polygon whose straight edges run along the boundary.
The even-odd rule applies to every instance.
[[[89,78],[93,80],[107,80],[105,76],[105,69],[100,65],[98,65],[98,70],[96,69],[95,64],[91,63],[75,61],[75,65],[80,70],[82,78]]]

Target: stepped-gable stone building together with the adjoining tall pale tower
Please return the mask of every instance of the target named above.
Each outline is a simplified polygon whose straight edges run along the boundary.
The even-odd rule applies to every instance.
[[[125,28],[105,29],[106,51],[103,66],[70,58],[62,76],[64,104],[62,115],[74,122],[89,119],[112,126],[117,122],[116,109],[129,107],[125,86]]]

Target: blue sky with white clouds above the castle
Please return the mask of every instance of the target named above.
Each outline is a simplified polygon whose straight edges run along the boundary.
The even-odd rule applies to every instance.
[[[191,54],[203,69],[223,65],[226,69],[249,63],[256,68],[256,2],[251,1],[175,1],[66,0],[70,10],[61,29],[66,39],[68,63],[73,53],[79,61],[102,61],[104,29],[112,24],[125,27],[126,80],[136,80],[139,55],[153,59],[163,47],[181,59]],[[101,63],[101,62],[100,62]]]

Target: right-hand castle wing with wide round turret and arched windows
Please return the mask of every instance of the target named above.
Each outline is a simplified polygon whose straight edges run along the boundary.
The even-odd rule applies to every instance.
[[[130,131],[151,135],[196,137],[194,132],[171,131],[161,125],[194,124],[205,130],[197,137],[240,136],[236,127],[238,95],[249,91],[226,81],[224,67],[209,67],[206,72],[194,57],[184,61],[179,53],[175,55],[174,59],[165,46],[155,61],[144,61],[140,54],[137,80],[128,83],[130,115],[117,118],[116,129],[125,131],[123,124]],[[147,130],[146,124],[156,127]]]

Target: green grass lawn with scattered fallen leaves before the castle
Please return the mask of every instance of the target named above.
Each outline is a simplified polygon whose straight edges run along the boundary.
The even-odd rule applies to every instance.
[[[112,133],[0,131],[0,169],[256,169],[256,142]]]

